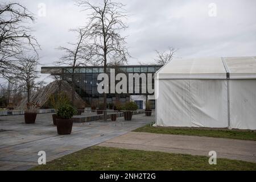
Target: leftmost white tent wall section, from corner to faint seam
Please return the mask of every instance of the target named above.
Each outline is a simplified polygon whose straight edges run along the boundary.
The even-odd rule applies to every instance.
[[[189,80],[159,80],[158,126],[192,127]]]

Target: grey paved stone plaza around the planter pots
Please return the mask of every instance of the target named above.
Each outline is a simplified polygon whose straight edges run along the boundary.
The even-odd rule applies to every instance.
[[[133,121],[74,123],[71,135],[58,135],[52,114],[38,114],[36,123],[26,125],[24,115],[0,117],[0,170],[26,170],[38,165],[38,152],[47,162],[126,134],[154,117],[134,115]]]

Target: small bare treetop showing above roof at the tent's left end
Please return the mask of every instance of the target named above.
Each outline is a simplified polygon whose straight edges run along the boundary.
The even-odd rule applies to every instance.
[[[176,51],[177,49],[172,47],[169,47],[168,51],[164,52],[155,51],[158,54],[158,58],[155,59],[156,63],[162,65],[169,63],[174,58]]]

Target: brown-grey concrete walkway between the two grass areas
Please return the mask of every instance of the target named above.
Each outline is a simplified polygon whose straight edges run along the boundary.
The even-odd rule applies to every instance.
[[[217,158],[256,163],[256,142],[249,140],[130,132],[99,146],[204,156],[216,151]]]

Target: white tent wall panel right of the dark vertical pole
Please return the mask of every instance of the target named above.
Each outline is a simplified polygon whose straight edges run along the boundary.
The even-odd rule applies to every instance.
[[[256,80],[230,80],[230,124],[256,130]]]

